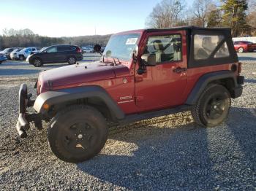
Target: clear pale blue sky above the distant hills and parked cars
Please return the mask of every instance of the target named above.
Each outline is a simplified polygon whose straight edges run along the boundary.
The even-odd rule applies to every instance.
[[[145,28],[159,1],[0,1],[0,33],[3,28],[29,28],[43,36],[82,36],[95,34],[95,29],[96,34],[113,34]]]

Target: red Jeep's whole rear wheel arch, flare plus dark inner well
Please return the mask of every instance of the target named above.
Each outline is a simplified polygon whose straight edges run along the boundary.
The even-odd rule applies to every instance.
[[[235,74],[232,71],[214,71],[204,74],[197,80],[185,104],[195,105],[203,90],[210,84],[225,86],[229,90],[231,97],[235,98],[233,88],[238,86]]]

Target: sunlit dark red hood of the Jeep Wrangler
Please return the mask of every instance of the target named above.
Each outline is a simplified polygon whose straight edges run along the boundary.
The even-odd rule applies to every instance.
[[[110,66],[99,61],[92,63],[79,63],[64,66],[57,69],[42,71],[39,74],[39,86],[41,93],[50,89],[80,86],[86,82],[94,82],[102,79],[111,79],[129,74],[127,66]]]

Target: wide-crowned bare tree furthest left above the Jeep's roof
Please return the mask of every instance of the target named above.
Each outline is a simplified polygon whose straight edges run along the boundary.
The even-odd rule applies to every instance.
[[[184,4],[181,0],[162,0],[154,8],[146,20],[146,26],[152,28],[168,28],[182,23],[181,13]]]

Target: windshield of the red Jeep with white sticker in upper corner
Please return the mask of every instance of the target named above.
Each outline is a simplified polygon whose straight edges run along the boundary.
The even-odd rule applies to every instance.
[[[121,61],[129,61],[135,50],[140,34],[117,34],[111,36],[104,50],[105,58],[118,58]]]

